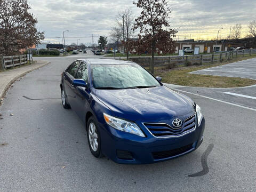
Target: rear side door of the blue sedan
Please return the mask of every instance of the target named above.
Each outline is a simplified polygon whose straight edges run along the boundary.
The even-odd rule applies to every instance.
[[[69,105],[73,108],[74,100],[75,100],[75,92],[74,92],[74,85],[73,80],[76,75],[76,71],[79,67],[80,61],[73,62],[69,68],[66,70],[64,74],[64,90],[68,99]]]

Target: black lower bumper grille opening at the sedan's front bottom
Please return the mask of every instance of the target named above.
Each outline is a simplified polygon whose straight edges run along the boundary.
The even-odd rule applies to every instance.
[[[178,148],[178,149],[173,149],[173,150],[168,150],[168,151],[156,151],[156,152],[153,152],[152,155],[153,155],[154,159],[169,158],[169,157],[173,157],[173,156],[185,153],[192,148],[193,148],[193,144],[190,144],[190,145]]]

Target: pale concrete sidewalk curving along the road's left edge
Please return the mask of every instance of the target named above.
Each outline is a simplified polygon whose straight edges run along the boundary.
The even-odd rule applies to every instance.
[[[34,64],[20,67],[17,69],[10,69],[4,72],[0,72],[0,99],[3,98],[3,95],[5,91],[9,88],[9,86],[16,81],[18,78],[22,77],[23,75],[36,70],[38,68],[41,68],[47,64],[49,64],[49,61],[37,61]]]

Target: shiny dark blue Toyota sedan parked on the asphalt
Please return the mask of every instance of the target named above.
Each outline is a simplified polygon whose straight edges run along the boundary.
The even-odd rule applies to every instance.
[[[79,59],[61,75],[61,98],[85,124],[92,155],[116,163],[166,161],[194,151],[205,119],[187,96],[137,63]]]

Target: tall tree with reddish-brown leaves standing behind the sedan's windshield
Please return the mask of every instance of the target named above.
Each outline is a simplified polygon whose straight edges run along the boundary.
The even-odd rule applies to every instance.
[[[133,48],[137,53],[151,53],[150,70],[154,74],[156,50],[158,53],[162,51],[163,54],[173,53],[175,47],[172,37],[175,37],[178,31],[170,28],[168,20],[172,11],[166,0],[138,0],[133,4],[142,9],[140,16],[135,19],[134,29],[140,29],[140,33]]]

